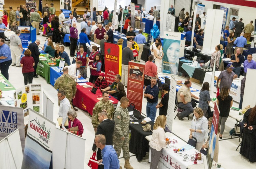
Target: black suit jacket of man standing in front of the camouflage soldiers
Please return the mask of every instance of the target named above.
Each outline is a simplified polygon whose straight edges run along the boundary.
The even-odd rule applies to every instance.
[[[114,128],[115,128],[115,121],[106,119],[99,124],[95,135],[103,134],[106,137],[106,145],[112,146]],[[95,150],[96,150],[96,145],[93,144],[93,151]]]

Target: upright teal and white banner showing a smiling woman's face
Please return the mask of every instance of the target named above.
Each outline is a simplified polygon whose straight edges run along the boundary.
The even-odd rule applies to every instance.
[[[178,74],[179,58],[183,57],[181,33],[164,31],[162,72],[172,75]]]

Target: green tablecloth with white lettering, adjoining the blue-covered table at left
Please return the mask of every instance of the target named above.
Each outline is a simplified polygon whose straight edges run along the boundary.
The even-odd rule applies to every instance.
[[[44,57],[47,59],[47,61],[39,59],[39,63],[37,65],[37,74],[43,76],[46,79],[46,82],[50,83],[50,68],[52,66],[50,66],[47,62],[51,62],[51,59],[48,59],[46,54],[44,54]]]

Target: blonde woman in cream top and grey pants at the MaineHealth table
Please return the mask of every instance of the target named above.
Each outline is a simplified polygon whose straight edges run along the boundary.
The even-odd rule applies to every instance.
[[[153,127],[153,134],[150,140],[150,150],[151,150],[151,163],[150,169],[156,169],[162,148],[165,145],[170,144],[169,140],[165,140],[165,124],[166,124],[166,116],[160,115],[156,118],[156,123]]]

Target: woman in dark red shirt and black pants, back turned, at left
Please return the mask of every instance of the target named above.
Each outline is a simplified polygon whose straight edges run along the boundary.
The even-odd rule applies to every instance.
[[[34,76],[34,68],[35,65],[34,59],[31,56],[31,51],[27,49],[24,52],[24,57],[20,60],[20,66],[22,67],[22,74],[24,76],[24,84],[32,83]]]

